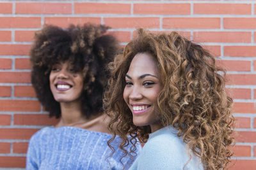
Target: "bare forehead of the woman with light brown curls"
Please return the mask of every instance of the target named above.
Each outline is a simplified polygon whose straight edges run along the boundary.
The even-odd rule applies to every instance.
[[[141,76],[141,74],[153,74],[157,76],[158,69],[154,57],[150,53],[137,53],[127,72],[129,76]]]

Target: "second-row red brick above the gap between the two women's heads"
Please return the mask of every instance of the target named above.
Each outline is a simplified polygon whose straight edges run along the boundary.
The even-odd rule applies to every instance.
[[[159,28],[158,17],[104,18],[104,23],[113,28]]]

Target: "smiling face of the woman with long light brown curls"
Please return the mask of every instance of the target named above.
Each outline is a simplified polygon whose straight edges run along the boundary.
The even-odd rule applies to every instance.
[[[137,53],[132,59],[125,82],[124,100],[132,111],[134,125],[150,125],[152,132],[160,129],[157,97],[163,87],[152,55]]]

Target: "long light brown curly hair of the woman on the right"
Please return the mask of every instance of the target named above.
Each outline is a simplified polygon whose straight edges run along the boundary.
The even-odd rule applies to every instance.
[[[225,169],[232,152],[234,117],[232,99],[225,92],[225,71],[217,67],[213,55],[200,45],[180,36],[152,34],[138,29],[138,36],[109,65],[111,79],[104,96],[104,108],[111,117],[109,130],[122,138],[124,157],[136,150],[137,138],[146,142],[150,127],[137,127],[123,98],[125,74],[137,53],[148,52],[157,61],[163,89],[157,97],[161,125],[178,130],[204,169]],[[131,138],[127,138],[130,134]],[[109,145],[111,141],[109,140]],[[125,146],[132,143],[129,151]]]

